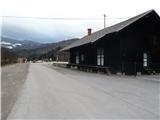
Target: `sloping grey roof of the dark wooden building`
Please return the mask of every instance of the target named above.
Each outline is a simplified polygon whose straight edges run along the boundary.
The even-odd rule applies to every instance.
[[[86,35],[83,38],[81,38],[80,40],[73,42],[69,46],[64,47],[61,51],[66,51],[71,48],[78,47],[78,46],[81,46],[84,44],[93,43],[93,42],[99,40],[100,38],[104,37],[106,34],[118,32],[118,31],[122,30],[123,28],[129,26],[130,24],[134,23],[135,21],[139,20],[140,18],[143,18],[144,16],[148,15],[149,13],[151,13],[153,11],[154,10],[149,10],[149,11],[142,13],[140,15],[137,15],[133,18],[130,18],[128,20],[125,20],[125,21],[120,22],[118,24],[115,24],[113,26],[110,26],[110,27],[104,28],[102,30],[99,30],[97,32],[94,32],[91,35]]]

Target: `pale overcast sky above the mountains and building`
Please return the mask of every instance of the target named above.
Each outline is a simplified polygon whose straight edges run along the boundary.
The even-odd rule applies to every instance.
[[[106,14],[106,26],[110,26],[150,9],[160,15],[159,5],[159,0],[1,0],[1,16],[33,18],[1,17],[0,22],[3,36],[55,42],[81,38],[87,28],[93,32],[102,29],[103,14]]]

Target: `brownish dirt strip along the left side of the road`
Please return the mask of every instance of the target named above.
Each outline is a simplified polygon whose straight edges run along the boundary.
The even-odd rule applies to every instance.
[[[1,69],[1,114],[5,120],[10,113],[18,93],[27,77],[29,64],[7,65]]]

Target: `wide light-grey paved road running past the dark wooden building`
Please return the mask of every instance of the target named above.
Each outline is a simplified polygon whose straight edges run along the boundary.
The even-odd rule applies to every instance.
[[[35,63],[8,119],[158,119],[159,86]]]

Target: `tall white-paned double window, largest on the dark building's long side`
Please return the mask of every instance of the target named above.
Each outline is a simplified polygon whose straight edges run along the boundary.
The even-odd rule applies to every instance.
[[[103,48],[97,49],[97,65],[104,65],[104,50]]]

